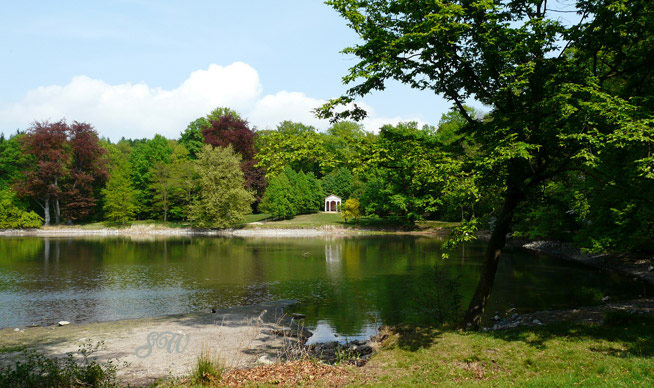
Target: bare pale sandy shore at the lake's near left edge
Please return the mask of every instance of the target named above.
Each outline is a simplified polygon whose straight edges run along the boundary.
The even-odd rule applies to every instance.
[[[0,348],[34,349],[57,357],[76,352],[83,343],[102,341],[97,359],[116,360],[119,381],[141,386],[162,377],[187,375],[202,351],[219,356],[227,367],[252,366],[261,357],[275,359],[289,339],[272,331],[293,324],[284,310],[294,303],[282,300],[216,313],[2,329]],[[0,362],[13,363],[17,354],[0,352]]]

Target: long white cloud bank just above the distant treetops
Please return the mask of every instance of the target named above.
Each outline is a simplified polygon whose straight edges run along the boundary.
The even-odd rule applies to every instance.
[[[262,95],[257,71],[235,62],[210,65],[198,70],[179,87],[166,90],[141,83],[110,85],[87,76],[76,76],[64,86],[43,86],[31,90],[18,102],[0,106],[0,128],[12,131],[27,128],[34,120],[86,121],[102,136],[117,140],[152,137],[155,133],[175,138],[186,125],[217,106],[228,106],[247,117],[257,128],[274,128],[282,120],[292,120],[326,129],[329,123],[317,119],[312,110],[324,100],[301,92],[280,91]],[[407,121],[401,117],[377,116],[369,112],[363,124],[377,132],[383,124]],[[409,118],[410,119],[410,118]]]

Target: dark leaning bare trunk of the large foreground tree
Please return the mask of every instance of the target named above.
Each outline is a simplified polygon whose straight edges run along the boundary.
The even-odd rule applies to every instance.
[[[481,270],[481,276],[475,294],[470,300],[468,311],[463,318],[463,328],[477,330],[481,325],[481,318],[484,315],[486,302],[490,297],[491,290],[493,289],[493,282],[495,281],[495,272],[497,272],[497,265],[500,261],[500,255],[506,244],[506,234],[511,228],[513,222],[513,214],[515,209],[523,198],[523,194],[514,190],[507,190],[504,205],[493,233],[488,241],[486,253],[484,254],[484,267]]]

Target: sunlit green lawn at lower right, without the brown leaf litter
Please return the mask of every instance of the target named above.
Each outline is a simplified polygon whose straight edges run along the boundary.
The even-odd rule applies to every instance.
[[[652,387],[654,319],[492,333],[406,328],[360,373],[383,387]],[[359,384],[354,384],[355,386]]]

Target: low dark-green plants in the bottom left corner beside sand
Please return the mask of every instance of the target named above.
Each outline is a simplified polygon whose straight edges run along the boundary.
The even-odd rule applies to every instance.
[[[112,361],[91,361],[90,356],[104,344],[86,343],[79,355],[48,357],[34,350],[21,353],[14,366],[0,368],[0,387],[3,388],[68,388],[113,387],[116,366]]]

